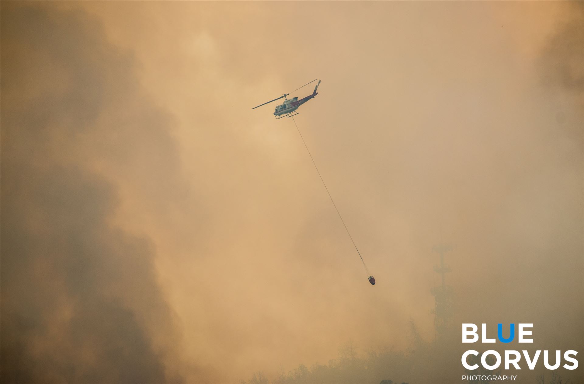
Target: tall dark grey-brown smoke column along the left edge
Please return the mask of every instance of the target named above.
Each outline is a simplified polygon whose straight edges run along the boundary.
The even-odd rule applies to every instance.
[[[128,177],[177,188],[169,120],[84,12],[1,18],[1,380],[177,382],[154,244],[113,222],[104,172],[139,162]]]

